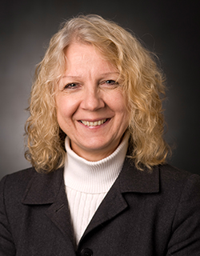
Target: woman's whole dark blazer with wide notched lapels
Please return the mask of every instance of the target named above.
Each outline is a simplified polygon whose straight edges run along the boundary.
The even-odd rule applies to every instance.
[[[2,179],[1,256],[199,256],[200,177],[126,159],[78,246],[74,246],[63,170],[34,168]],[[80,217],[81,218],[81,217]]]

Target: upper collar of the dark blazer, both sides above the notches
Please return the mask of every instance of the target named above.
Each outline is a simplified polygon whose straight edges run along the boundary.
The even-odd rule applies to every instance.
[[[159,168],[152,171],[138,170],[130,158],[126,158],[118,177],[121,193],[158,193]],[[50,174],[38,174],[34,171],[22,198],[24,204],[50,204],[56,201],[60,190],[64,191],[63,168]]]

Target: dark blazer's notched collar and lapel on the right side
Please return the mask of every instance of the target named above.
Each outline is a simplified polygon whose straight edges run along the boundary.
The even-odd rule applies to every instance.
[[[158,166],[152,171],[141,171],[136,169],[130,158],[126,158],[121,173],[98,207],[82,239],[97,226],[121,214],[124,210],[128,210],[129,207],[123,197],[124,193],[158,193],[158,191]]]

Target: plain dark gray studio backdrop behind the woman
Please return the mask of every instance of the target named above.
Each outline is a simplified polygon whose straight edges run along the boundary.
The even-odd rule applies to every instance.
[[[51,36],[64,19],[100,14],[133,30],[160,58],[167,78],[170,163],[200,174],[198,1],[0,2],[0,178],[30,166],[23,157],[23,130],[31,81]]]

